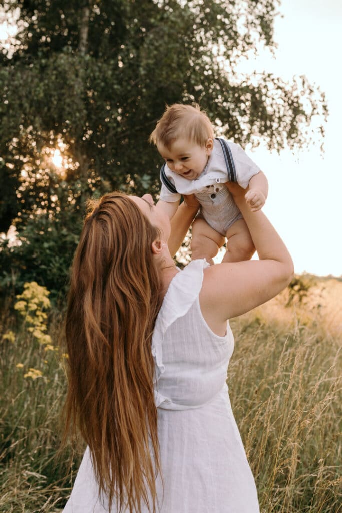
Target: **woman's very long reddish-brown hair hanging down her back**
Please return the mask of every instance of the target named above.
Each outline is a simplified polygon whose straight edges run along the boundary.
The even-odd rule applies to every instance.
[[[151,244],[159,236],[128,196],[88,213],[71,270],[66,315],[66,428],[91,452],[99,494],[117,510],[155,511],[160,471],[152,331],[162,303]]]

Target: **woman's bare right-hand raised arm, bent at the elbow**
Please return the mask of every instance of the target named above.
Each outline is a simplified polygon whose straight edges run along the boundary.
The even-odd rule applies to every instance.
[[[222,263],[205,270],[200,292],[202,312],[214,329],[273,298],[293,276],[293,262],[280,236],[261,212],[252,212],[246,190],[226,184],[247,223],[259,260]]]

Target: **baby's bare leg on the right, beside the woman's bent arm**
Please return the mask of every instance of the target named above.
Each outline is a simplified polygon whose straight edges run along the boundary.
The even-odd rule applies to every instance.
[[[250,260],[255,252],[251,234],[243,219],[235,223],[227,230],[227,251],[223,262],[240,262]]]

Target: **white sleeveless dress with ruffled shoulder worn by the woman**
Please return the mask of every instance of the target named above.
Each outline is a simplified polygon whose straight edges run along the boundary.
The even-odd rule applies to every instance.
[[[164,489],[160,513],[259,513],[256,487],[226,385],[234,339],[211,331],[199,306],[205,260],[172,279],[152,339]],[[106,513],[87,449],[65,513]],[[112,506],[115,513],[115,504]],[[140,513],[146,513],[143,507]]]

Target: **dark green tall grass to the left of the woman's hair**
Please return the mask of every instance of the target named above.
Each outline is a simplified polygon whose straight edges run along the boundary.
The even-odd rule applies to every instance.
[[[61,325],[61,315],[55,313],[49,328],[55,345],[61,342]],[[21,319],[9,317],[5,310],[2,331],[10,329],[14,340],[5,337],[0,342],[0,511],[59,510],[81,453],[75,455],[68,446],[58,454],[66,390],[64,357],[61,350],[46,350]],[[39,373],[42,376],[36,378]]]

